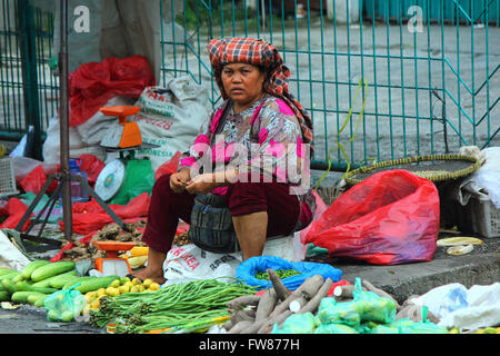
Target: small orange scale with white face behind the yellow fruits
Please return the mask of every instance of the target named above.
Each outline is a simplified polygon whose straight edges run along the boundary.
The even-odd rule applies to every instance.
[[[120,276],[124,277],[132,274],[127,258],[118,257],[118,251],[128,251],[136,246],[136,243],[121,243],[121,241],[100,241],[92,240],[97,249],[106,251],[107,257],[96,259],[96,269],[99,270],[102,276]]]

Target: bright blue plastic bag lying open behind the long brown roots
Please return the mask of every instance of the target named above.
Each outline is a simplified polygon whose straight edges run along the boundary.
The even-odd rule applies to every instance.
[[[266,271],[268,268],[278,269],[294,269],[300,271],[300,275],[291,276],[281,279],[283,285],[290,289],[296,290],[302,283],[314,275],[320,275],[324,279],[330,278],[333,283],[339,281],[342,271],[327,264],[317,263],[292,263],[287,259],[276,256],[259,256],[250,257],[237,267],[236,277],[243,280],[246,284],[256,287],[257,289],[266,289],[272,284],[268,280],[256,278],[259,271]]]

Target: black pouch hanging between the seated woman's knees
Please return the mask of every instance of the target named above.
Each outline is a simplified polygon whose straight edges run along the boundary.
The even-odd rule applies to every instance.
[[[196,246],[210,253],[232,254],[240,250],[224,197],[211,192],[194,197],[188,237]]]

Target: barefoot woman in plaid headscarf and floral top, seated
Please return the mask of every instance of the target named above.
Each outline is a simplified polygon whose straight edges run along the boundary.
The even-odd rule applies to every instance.
[[[164,281],[163,261],[179,218],[190,224],[197,194],[224,197],[243,260],[260,256],[267,237],[289,235],[312,220],[312,122],[288,90],[290,71],[280,55],[248,38],[212,40],[208,51],[224,101],[202,125],[179,171],[154,184],[141,279]],[[200,174],[207,158],[211,167],[201,165]]]

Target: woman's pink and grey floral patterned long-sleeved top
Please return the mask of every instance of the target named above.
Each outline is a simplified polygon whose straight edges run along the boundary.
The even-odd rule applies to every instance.
[[[224,110],[226,120],[219,128]],[[277,97],[266,93],[239,113],[233,112],[232,101],[227,100],[203,122],[180,166],[203,167],[203,172],[207,168],[217,171],[230,166],[240,172],[272,177],[289,185],[306,204],[302,211],[306,208],[312,215],[316,201],[310,188],[309,147],[302,144],[301,135],[294,112]],[[223,195],[226,190],[219,187],[212,192]]]

